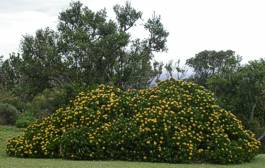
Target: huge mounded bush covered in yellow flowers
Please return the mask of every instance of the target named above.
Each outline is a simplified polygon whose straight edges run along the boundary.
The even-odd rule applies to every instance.
[[[241,163],[260,142],[211,92],[190,82],[122,91],[100,85],[9,140],[18,157]]]

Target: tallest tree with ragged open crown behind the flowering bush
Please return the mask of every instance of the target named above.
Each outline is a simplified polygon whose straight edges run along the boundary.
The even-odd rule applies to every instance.
[[[133,39],[129,30],[142,12],[128,2],[113,9],[116,20],[108,20],[105,10],[93,12],[80,2],[71,3],[59,16],[60,51],[75,81],[145,87],[156,75],[151,60],[154,52],[166,50],[168,32],[154,15],[144,24],[149,37]]]

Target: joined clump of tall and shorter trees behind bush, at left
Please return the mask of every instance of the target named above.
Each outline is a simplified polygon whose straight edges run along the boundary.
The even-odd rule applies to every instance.
[[[23,37],[21,53],[3,63],[3,85],[24,100],[66,83],[148,86],[160,72],[152,59],[166,50],[168,32],[160,16],[153,15],[141,23],[148,36],[133,38],[130,32],[143,22],[142,12],[130,3],[113,9],[116,19],[108,19],[106,10],[71,3],[59,14],[58,31],[40,29]]]

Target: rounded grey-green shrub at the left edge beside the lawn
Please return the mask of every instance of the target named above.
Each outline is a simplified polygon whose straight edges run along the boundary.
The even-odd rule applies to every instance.
[[[17,115],[16,107],[7,103],[0,103],[0,125],[15,124]]]

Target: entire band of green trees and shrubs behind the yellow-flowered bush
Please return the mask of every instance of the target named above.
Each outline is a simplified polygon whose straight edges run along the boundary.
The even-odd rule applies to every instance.
[[[143,21],[143,13],[130,3],[113,10],[116,18],[108,19],[105,10],[91,11],[74,2],[59,14],[58,29],[25,35],[20,53],[6,60],[0,57],[0,102],[42,118],[83,89],[98,84],[146,88],[164,71],[166,78],[191,80],[213,91],[221,107],[262,134],[264,60],[241,65],[241,57],[232,50],[205,50],[189,58],[186,68],[179,60],[164,65],[153,57],[167,50],[168,32],[160,16]],[[147,32],[145,38],[131,35],[140,25]],[[188,68],[193,69],[191,76],[185,73]]]

